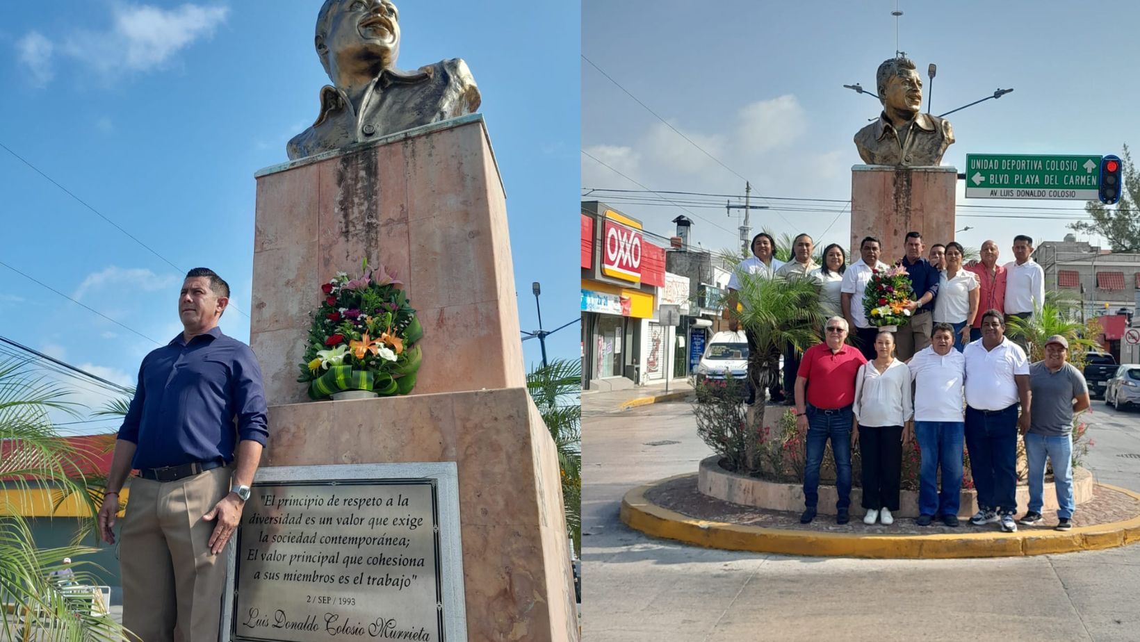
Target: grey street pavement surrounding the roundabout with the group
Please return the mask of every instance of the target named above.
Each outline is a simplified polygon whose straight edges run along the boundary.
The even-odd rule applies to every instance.
[[[587,642],[1140,640],[1140,545],[862,560],[716,551],[632,530],[618,518],[627,490],[695,472],[711,452],[689,404],[618,411],[616,398],[593,399],[583,397]],[[1096,446],[1085,465],[1101,482],[1140,490],[1140,412],[1094,400],[1088,420]]]

